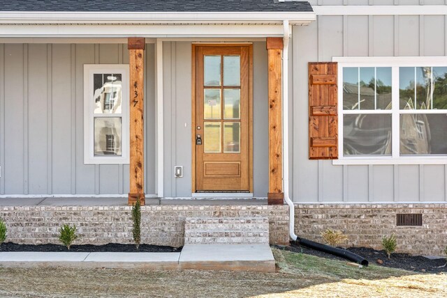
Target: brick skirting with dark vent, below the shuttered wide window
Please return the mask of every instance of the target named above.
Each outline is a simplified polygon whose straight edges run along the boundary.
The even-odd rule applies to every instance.
[[[420,213],[423,226],[396,226],[397,213]],[[383,235],[395,234],[397,251],[423,256],[444,256],[447,246],[447,204],[298,204],[295,233],[322,242],[326,229],[342,230],[342,246],[382,249]]]

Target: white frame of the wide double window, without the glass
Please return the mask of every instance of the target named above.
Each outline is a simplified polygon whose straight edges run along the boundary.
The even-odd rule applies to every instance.
[[[399,68],[400,67],[447,67],[447,58],[439,57],[334,57],[333,62],[338,63],[338,148],[339,158],[332,160],[332,164],[447,164],[447,155],[417,155],[400,156],[400,114],[414,113],[420,110],[402,111],[399,109]],[[361,110],[361,113],[392,115],[392,155],[371,157],[344,157],[343,156],[343,116],[344,113],[359,113],[359,110],[343,111],[343,68],[376,67],[392,68],[392,109],[390,110]],[[444,110],[443,110],[444,111]],[[424,113],[439,113],[439,110],[424,110]]]

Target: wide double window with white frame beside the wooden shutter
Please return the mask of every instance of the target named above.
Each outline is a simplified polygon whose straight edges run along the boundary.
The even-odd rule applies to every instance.
[[[339,161],[447,164],[445,58],[335,58]]]

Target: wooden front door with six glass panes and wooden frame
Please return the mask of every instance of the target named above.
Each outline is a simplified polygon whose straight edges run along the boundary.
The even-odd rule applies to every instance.
[[[193,46],[193,191],[252,191],[251,51]]]

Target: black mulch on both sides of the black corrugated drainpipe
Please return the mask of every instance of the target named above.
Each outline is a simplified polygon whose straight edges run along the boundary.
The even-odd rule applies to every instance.
[[[295,253],[306,253],[312,256],[318,256],[321,258],[330,258],[335,260],[344,260],[344,258],[339,258],[337,256],[332,256],[330,253],[323,253],[322,251],[315,251],[314,249],[308,249],[305,246],[300,246],[300,244],[291,243],[291,246],[287,246],[286,250],[293,251]],[[385,251],[376,251],[375,249],[369,249],[366,247],[350,247],[349,251],[362,256],[367,259],[369,264],[374,264],[378,266],[393,267],[398,269],[409,270],[413,272],[429,272],[429,273],[439,273],[447,272],[446,267],[440,267],[446,264],[447,260],[445,258],[430,260],[423,256],[410,256],[406,253],[393,253],[391,258],[388,259]],[[383,264],[379,265],[377,260],[382,260]]]

